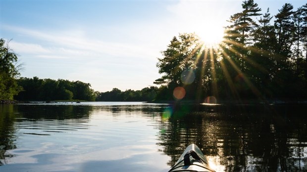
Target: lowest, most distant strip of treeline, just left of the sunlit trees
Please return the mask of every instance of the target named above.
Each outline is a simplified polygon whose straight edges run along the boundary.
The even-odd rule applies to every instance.
[[[97,93],[96,101],[152,101],[156,98],[157,90],[155,86],[136,91],[113,88],[111,91]]]

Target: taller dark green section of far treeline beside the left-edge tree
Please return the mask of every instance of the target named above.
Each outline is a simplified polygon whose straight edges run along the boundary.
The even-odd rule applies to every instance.
[[[88,83],[81,81],[51,80],[33,78],[17,79],[18,86],[23,88],[16,100],[87,100],[95,101],[96,94]]]

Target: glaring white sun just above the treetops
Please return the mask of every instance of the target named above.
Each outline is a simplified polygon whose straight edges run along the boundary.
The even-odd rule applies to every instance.
[[[216,47],[223,41],[224,29],[222,27],[206,26],[196,32],[206,47]]]

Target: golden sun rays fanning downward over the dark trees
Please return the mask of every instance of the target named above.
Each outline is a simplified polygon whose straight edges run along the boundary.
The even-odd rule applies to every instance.
[[[210,34],[206,34],[210,35]],[[212,36],[214,33],[212,34]],[[232,94],[237,100],[242,97],[242,87],[246,86],[246,90],[250,90],[258,99],[264,99],[259,89],[251,82],[249,76],[247,76],[242,70],[242,64],[249,64],[258,72],[267,73],[267,70],[260,64],[255,62],[253,59],[246,57],[243,53],[238,50],[239,48],[245,48],[244,44],[227,39],[227,35],[223,34],[222,38],[216,38],[216,40],[207,40],[205,37],[200,37],[201,44],[196,47],[199,51],[192,51],[192,53],[198,52],[195,58],[195,65],[201,64],[200,67],[200,78],[203,80],[210,80],[210,93],[208,96],[219,97],[219,87],[221,84],[228,85],[228,94]],[[207,41],[205,43],[205,41]],[[260,52],[261,50],[256,48],[246,49],[247,51]],[[268,52],[263,52],[268,53]],[[190,55],[193,56],[194,54]],[[241,61],[239,64],[234,59]],[[220,72],[217,74],[217,72]],[[220,76],[222,73],[223,76]],[[194,74],[186,75],[188,78],[194,76]],[[206,77],[208,76],[208,77]],[[222,79],[223,78],[223,79]],[[202,83],[202,82],[201,82]],[[207,97],[204,98],[206,101]]]

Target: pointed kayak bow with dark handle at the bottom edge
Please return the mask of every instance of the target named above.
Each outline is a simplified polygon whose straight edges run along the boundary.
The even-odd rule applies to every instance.
[[[209,167],[208,161],[200,148],[190,144],[183,152],[174,167],[168,172],[215,172]]]

